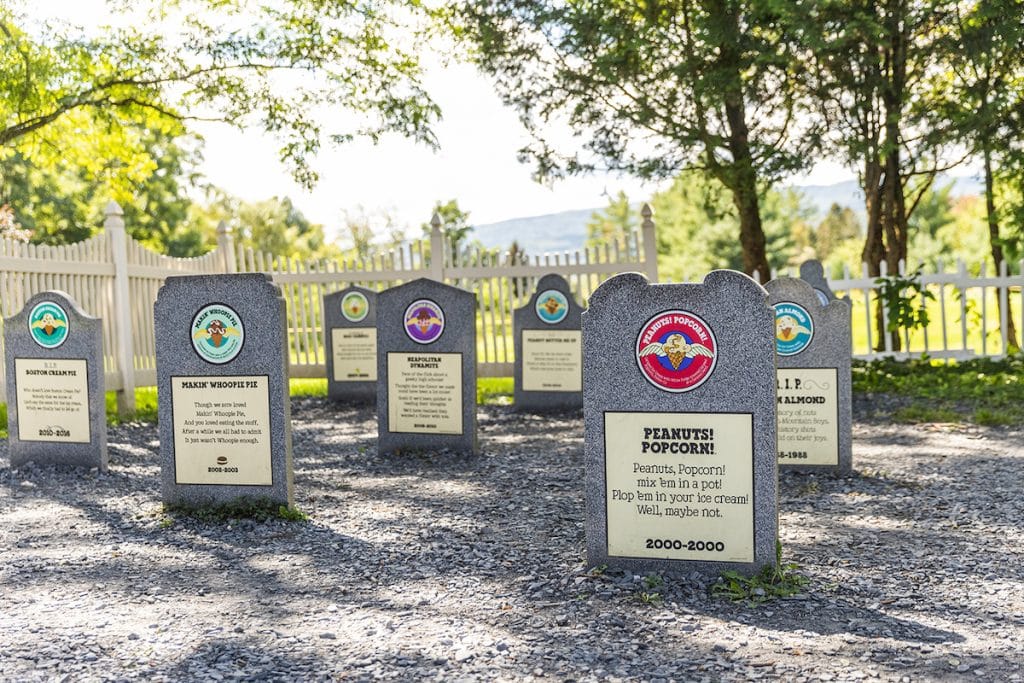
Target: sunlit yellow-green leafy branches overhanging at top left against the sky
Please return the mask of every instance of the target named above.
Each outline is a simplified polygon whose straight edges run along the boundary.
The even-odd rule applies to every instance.
[[[127,20],[89,34],[59,16],[33,23],[0,8],[0,150],[62,152],[61,132],[84,117],[95,121],[96,143],[137,152],[136,131],[203,117],[262,127],[310,186],[309,160],[325,138],[400,133],[435,144],[438,110],[420,85],[428,10],[419,2],[126,0],[120,9]],[[332,119],[345,127],[324,130],[322,108],[343,111]],[[144,155],[125,161],[115,173],[122,181],[152,171]]]

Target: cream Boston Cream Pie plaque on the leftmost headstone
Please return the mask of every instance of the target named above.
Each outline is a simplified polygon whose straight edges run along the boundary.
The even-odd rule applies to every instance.
[[[88,443],[89,377],[85,360],[14,358],[17,437]]]

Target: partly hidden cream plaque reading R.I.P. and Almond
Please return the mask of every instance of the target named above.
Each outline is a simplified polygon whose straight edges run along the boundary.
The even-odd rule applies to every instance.
[[[779,464],[839,465],[838,384],[835,368],[779,368]]]

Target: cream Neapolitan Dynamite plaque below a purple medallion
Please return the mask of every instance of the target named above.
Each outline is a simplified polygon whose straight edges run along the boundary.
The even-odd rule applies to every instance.
[[[462,434],[462,354],[387,354],[388,430]]]

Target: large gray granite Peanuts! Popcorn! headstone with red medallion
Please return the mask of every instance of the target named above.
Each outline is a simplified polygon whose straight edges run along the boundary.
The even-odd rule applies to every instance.
[[[587,558],[634,570],[775,564],[775,344],[764,288],[615,275],[583,314]]]

